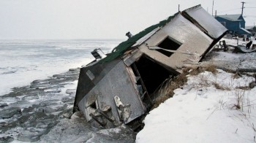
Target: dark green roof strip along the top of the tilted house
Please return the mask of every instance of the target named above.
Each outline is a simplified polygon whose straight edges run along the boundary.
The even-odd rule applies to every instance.
[[[166,23],[169,23],[170,20],[172,20],[178,12],[175,15],[172,15],[168,17],[165,20],[160,21],[159,23],[149,26],[148,28],[144,29],[143,31],[140,31],[140,33],[132,36],[131,38],[127,39],[125,42],[121,42],[117,47],[115,47],[110,54],[106,58],[103,58],[99,61],[99,63],[105,63],[108,61],[112,61],[113,59],[117,58],[119,55],[122,55],[126,50],[129,49],[129,47],[132,47],[140,38],[145,36],[146,34],[150,33],[157,27],[165,26]]]

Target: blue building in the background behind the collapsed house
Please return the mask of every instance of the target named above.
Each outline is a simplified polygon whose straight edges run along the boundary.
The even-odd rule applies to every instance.
[[[217,15],[216,19],[225,26],[230,34],[241,36],[252,36],[251,32],[245,29],[245,20],[241,14],[239,15]]]

